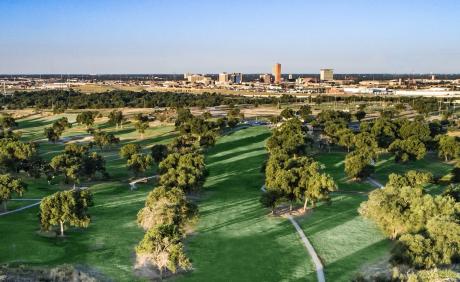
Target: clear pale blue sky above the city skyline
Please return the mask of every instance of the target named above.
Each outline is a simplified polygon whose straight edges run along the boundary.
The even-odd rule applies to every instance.
[[[460,73],[460,1],[0,0],[0,73]]]

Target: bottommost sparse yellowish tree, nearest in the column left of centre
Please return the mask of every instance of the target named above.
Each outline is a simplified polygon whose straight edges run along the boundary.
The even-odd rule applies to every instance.
[[[157,225],[145,233],[136,247],[138,256],[145,256],[158,267],[160,278],[163,271],[175,273],[178,269],[189,269],[191,263],[185,255],[182,233],[176,225]]]

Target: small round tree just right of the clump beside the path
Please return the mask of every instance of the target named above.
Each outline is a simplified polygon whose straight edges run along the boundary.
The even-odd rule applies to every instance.
[[[373,171],[369,155],[355,151],[345,157],[345,173],[348,177],[360,180],[368,177]]]

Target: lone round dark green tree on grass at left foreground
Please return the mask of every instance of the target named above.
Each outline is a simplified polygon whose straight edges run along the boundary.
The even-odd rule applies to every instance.
[[[91,222],[88,207],[93,206],[93,196],[89,190],[73,189],[56,192],[42,199],[40,203],[40,224],[42,230],[50,230],[59,225],[64,236],[66,225],[86,228]]]

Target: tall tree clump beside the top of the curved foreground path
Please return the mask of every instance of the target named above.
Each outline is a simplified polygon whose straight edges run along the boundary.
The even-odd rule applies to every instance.
[[[266,193],[261,203],[272,209],[282,201],[289,201],[290,210],[296,201],[313,207],[318,201],[328,201],[330,192],[337,189],[332,177],[321,172],[321,166],[307,155],[312,139],[302,129],[300,120],[293,117],[273,131],[267,141],[269,159],[265,166]]]

